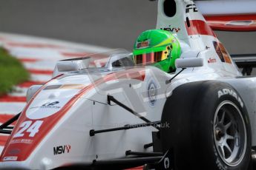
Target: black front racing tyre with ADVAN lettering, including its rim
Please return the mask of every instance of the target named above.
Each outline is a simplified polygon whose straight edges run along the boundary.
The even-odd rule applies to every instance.
[[[163,152],[173,152],[175,170],[249,168],[249,116],[229,84],[199,81],[178,86],[165,103],[161,123]]]

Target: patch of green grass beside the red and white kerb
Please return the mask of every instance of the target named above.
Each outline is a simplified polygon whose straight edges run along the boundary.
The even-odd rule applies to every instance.
[[[16,84],[29,80],[30,75],[23,65],[0,47],[0,96],[13,89]]]

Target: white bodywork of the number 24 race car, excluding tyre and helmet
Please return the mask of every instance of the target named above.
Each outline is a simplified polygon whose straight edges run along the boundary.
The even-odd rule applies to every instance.
[[[158,1],[157,28],[179,28],[174,35],[180,40],[181,58],[202,58],[203,67],[185,69],[171,84],[166,81],[175,73],[168,74],[156,67],[64,72],[42,86],[27,103],[1,154],[1,168],[53,169],[69,163],[90,164],[93,160],[125,157],[127,150],[152,152],[151,148],[143,148],[152,142],[151,132],[156,131],[152,126],[94,136],[89,133],[91,129],[143,123],[140,116],[160,120],[172,90],[192,81],[217,80],[234,86],[246,103],[252,134],[256,134],[256,95],[252,93],[256,92],[256,78],[237,78],[241,74],[230,56],[223,62],[217,55],[213,41],[219,41],[215,36],[195,32],[189,35],[187,17],[190,21],[205,22],[199,12],[185,13],[193,1],[176,0],[177,13],[173,17],[165,16],[163,2]],[[210,28],[203,29],[207,32]],[[108,105],[107,95],[114,96],[139,115],[132,115],[115,103]],[[256,146],[255,136],[252,145]]]

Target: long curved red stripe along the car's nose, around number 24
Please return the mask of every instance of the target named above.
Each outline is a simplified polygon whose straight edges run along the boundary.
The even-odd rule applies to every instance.
[[[56,78],[61,78],[61,76],[62,75],[59,75]],[[56,78],[53,78],[53,79],[56,79]],[[34,100],[34,98],[32,98],[29,101],[29,103],[27,103],[27,106],[25,106],[24,111],[22,112],[22,115],[17,122],[16,127],[13,129],[12,136],[7,141],[7,146],[4,147],[4,151],[1,154],[1,161],[3,161],[4,157],[13,156],[13,154],[10,154],[10,150],[14,148],[22,149],[22,152],[20,152],[20,154],[16,154],[16,156],[18,156],[17,161],[26,160],[27,157],[30,156],[31,152],[33,152],[33,150],[36,149],[36,146],[39,145],[42,139],[45,138],[48,132],[50,132],[51,129],[53,129],[53,127],[56,126],[56,123],[59,122],[59,120],[68,112],[68,110],[73,106],[73,104],[76,103],[76,101],[82,97],[82,95],[84,95],[86,92],[89,92],[91,89],[95,88],[95,86],[104,84],[106,81],[113,81],[113,80],[122,79],[122,78],[131,78],[131,79],[144,81],[145,69],[144,68],[126,69],[124,71],[114,72],[109,75],[106,75],[103,78],[99,78],[98,80],[94,81],[90,85],[85,86],[85,88],[81,89],[76,95],[73,96],[73,98],[70,99],[70,101],[68,101],[68,103],[65,104],[65,106],[62,106],[62,109],[60,109],[55,114],[50,115],[47,118],[37,119],[37,120],[42,120],[43,124],[40,127],[40,132],[36,134],[35,137],[29,137],[27,133],[24,133],[23,137],[14,138],[14,140],[16,139],[32,140],[30,145],[27,145],[27,143],[10,143],[13,140],[13,135],[15,135],[20,129],[19,125],[24,121],[31,120],[30,118],[26,117],[26,112],[28,107],[30,106],[30,103],[32,103]],[[42,88],[36,92],[36,95],[38,95],[39,92],[41,92],[41,90],[45,88],[45,86],[42,86]],[[34,96],[36,97],[36,95]],[[35,121],[35,120],[32,120],[32,121]]]

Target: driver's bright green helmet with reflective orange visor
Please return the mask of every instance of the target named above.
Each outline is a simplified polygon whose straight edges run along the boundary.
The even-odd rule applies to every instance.
[[[166,30],[146,30],[135,41],[133,53],[135,64],[152,64],[171,72],[180,58],[180,43]]]

